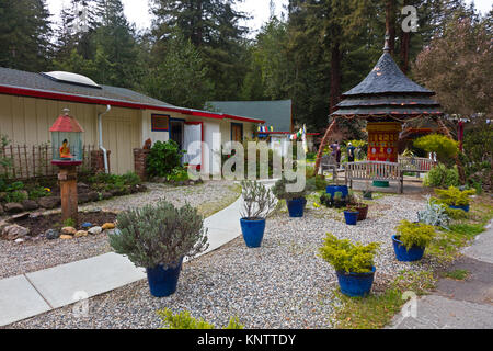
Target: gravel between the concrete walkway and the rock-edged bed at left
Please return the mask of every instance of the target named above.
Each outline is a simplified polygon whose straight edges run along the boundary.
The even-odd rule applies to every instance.
[[[80,207],[87,211],[99,207],[105,211],[124,211],[129,207],[154,203],[165,197],[176,206],[188,202],[208,216],[225,208],[239,195],[231,182],[206,182],[195,186],[173,188],[163,184],[146,184],[148,192],[114,197]],[[103,225],[103,224],[100,224]],[[15,244],[0,239],[0,279],[48,269],[59,264],[79,261],[107,253],[112,249],[106,234],[71,240],[38,240]]]

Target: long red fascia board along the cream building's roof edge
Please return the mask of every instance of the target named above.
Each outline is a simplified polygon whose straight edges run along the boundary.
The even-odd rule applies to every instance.
[[[181,107],[156,106],[156,105],[141,104],[141,103],[137,103],[137,102],[125,102],[125,101],[107,100],[107,99],[100,99],[100,98],[81,97],[81,95],[65,94],[65,93],[33,90],[33,89],[25,89],[25,88],[0,86],[0,93],[4,93],[4,94],[9,94],[9,95],[22,95],[22,97],[28,97],[28,98],[47,99],[47,100],[61,100],[61,101],[89,103],[89,104],[112,105],[112,106],[117,106],[117,107],[127,107],[127,109],[136,109],[136,110],[156,110],[156,111],[165,111],[165,112],[176,112],[176,113],[199,116],[199,117],[206,117],[206,118],[215,118],[215,120],[225,120],[225,117],[228,117],[230,120],[236,120],[236,121],[252,122],[252,123],[260,123],[260,124],[265,123],[265,121],[261,121],[261,120],[244,118],[244,117],[232,116],[232,115],[221,115],[221,114],[215,114],[215,113],[210,113],[210,112],[206,112],[206,111],[192,111],[192,110],[181,109]]]

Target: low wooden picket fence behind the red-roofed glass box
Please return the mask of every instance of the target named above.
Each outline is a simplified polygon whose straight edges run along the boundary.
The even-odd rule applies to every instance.
[[[82,148],[82,165],[79,170],[91,168],[91,151],[98,148],[85,145]],[[8,179],[25,180],[32,178],[53,177],[58,167],[51,165],[50,145],[8,145],[0,148],[0,159],[8,160],[9,166],[0,168],[0,174]]]

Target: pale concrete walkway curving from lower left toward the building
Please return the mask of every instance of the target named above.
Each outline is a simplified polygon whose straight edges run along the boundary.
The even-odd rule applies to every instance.
[[[273,181],[266,182],[271,186]],[[204,220],[206,254],[241,235],[240,197]],[[147,279],[145,269],[114,252],[0,280],[0,327]]]

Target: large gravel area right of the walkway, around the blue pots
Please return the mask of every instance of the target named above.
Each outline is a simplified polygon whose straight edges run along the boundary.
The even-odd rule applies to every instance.
[[[238,238],[215,252],[184,264],[179,288],[168,298],[153,298],[146,281],[89,301],[88,317],[77,318],[72,306],[54,310],[9,328],[158,328],[156,310],[190,310],[216,326],[238,316],[246,328],[331,328],[337,302],[332,268],[317,256],[325,233],[355,241],[380,241],[374,290],[400,270],[433,265],[401,263],[390,240],[401,219],[415,220],[424,206],[421,196],[383,196],[372,202],[369,219],[346,226],[342,214],[326,208],[309,210],[305,218],[289,218],[286,211],[267,220],[262,248],[248,249]],[[311,207],[311,208],[310,208]]]

